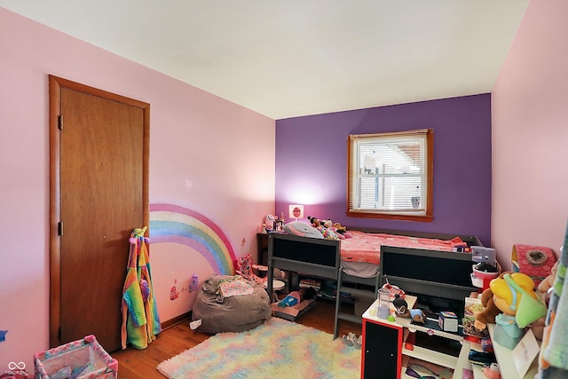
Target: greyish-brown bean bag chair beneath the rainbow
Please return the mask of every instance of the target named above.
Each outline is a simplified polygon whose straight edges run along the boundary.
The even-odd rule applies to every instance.
[[[201,326],[195,330],[207,334],[243,332],[272,316],[268,294],[254,280],[241,278],[252,287],[252,294],[224,296],[219,285],[235,278],[241,277],[215,274],[203,282],[193,304],[192,320],[201,320]]]

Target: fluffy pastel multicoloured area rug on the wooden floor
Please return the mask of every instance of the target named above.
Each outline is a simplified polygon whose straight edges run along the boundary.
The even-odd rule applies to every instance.
[[[242,333],[219,333],[164,360],[158,371],[180,378],[359,378],[361,350],[341,338],[272,317]]]

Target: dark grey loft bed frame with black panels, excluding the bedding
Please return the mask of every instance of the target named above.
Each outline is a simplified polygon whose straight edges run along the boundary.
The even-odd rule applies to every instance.
[[[348,228],[364,233],[388,233],[412,237],[451,240],[455,234],[408,233],[370,228]],[[483,246],[475,236],[459,236],[468,246]],[[334,339],[337,338],[339,320],[361,323],[361,317],[340,312],[340,292],[353,296],[376,298],[378,289],[386,280],[414,295],[436,296],[464,301],[478,288],[470,283],[471,254],[438,250],[381,247],[378,273],[371,278],[360,278],[343,272],[341,241],[300,237],[285,233],[268,233],[268,294],[273,301],[273,268],[337,281],[335,296]],[[424,270],[427,268],[427,270]],[[385,279],[386,278],[386,279]],[[367,289],[344,287],[344,283],[362,284]]]

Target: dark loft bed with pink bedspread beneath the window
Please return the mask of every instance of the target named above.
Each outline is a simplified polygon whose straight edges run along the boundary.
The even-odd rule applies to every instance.
[[[453,251],[456,246],[482,246],[475,236],[368,228],[348,231],[352,238],[339,241],[268,233],[268,293],[272,294],[274,267],[337,280],[337,288],[353,296],[375,298],[386,280],[413,295],[458,303],[477,291],[470,282],[471,255]],[[335,338],[338,320],[361,322],[355,314],[340,312],[340,304],[336,296]]]

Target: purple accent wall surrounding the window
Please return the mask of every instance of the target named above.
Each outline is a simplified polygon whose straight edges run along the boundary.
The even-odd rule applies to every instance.
[[[317,101],[317,100],[314,100]],[[347,217],[347,136],[434,130],[434,219]],[[277,215],[304,204],[304,216],[350,226],[477,235],[491,242],[491,94],[315,114],[276,122]]]

